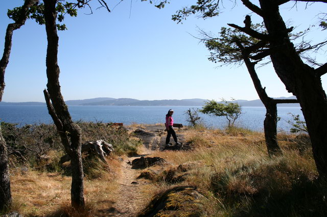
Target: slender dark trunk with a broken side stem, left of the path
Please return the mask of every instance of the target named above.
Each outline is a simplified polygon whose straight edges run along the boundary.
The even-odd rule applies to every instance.
[[[72,165],[72,206],[81,208],[85,205],[83,193],[83,166],[81,155],[81,129],[72,121],[60,92],[58,59],[58,35],[56,27],[56,0],[44,1],[44,18],[48,48],[46,50],[47,90],[44,90],[45,100],[65,148],[71,157]],[[70,143],[68,140],[70,138]]]

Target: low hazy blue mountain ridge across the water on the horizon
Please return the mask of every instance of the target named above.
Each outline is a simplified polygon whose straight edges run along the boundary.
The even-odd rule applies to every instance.
[[[274,99],[296,99],[291,97],[278,97]],[[67,105],[119,105],[119,106],[203,106],[208,101],[206,99],[164,99],[164,100],[138,100],[131,98],[109,98],[99,97],[92,99],[67,100]],[[264,106],[260,99],[255,100],[236,100],[241,106]],[[45,105],[44,102],[0,102],[0,105]],[[278,104],[283,107],[299,107],[298,103]]]

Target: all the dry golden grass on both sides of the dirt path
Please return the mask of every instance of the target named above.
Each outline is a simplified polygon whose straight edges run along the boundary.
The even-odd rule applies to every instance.
[[[139,126],[139,125],[138,125]],[[138,127],[137,126],[137,127]],[[327,213],[324,201],[326,184],[317,182],[317,171],[306,135],[278,134],[283,156],[269,157],[264,134],[246,129],[180,130],[193,151],[162,151],[159,156],[169,164],[152,167],[157,179],[141,188],[142,198],[150,198],[173,185],[197,186],[209,200],[203,201],[203,215],[207,216],[279,216],[312,215]],[[50,153],[56,156],[55,153]],[[87,209],[73,210],[70,204],[71,178],[59,173],[30,169],[11,172],[14,209],[24,215],[103,216],[116,202],[114,194],[118,183],[121,162],[112,155],[110,170],[98,178],[85,178]],[[185,162],[203,163],[182,173],[176,172]],[[165,178],[184,174],[182,182],[169,182]],[[142,171],[139,171],[140,173]],[[142,179],[141,179],[142,181]],[[23,197],[24,196],[24,197]],[[311,210],[311,211],[308,211]]]

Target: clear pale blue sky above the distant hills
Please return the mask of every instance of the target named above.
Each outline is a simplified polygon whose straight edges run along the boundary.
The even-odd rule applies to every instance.
[[[135,99],[258,99],[245,66],[222,66],[207,60],[209,52],[199,40],[197,28],[218,33],[226,23],[243,25],[249,13],[238,2],[231,8],[224,2],[223,13],[212,19],[189,17],[183,24],[171,20],[178,9],[196,0],[172,0],[164,9],[147,2],[123,1],[111,13],[97,8],[94,13],[80,10],[66,17],[68,30],[59,32],[61,91],[65,100],[95,97]],[[107,1],[112,9],[119,1]],[[0,1],[0,46],[8,23],[7,9],[21,6],[22,0]],[[305,29],[317,23],[317,14],[326,4],[294,3],[281,7],[285,21]],[[131,10],[130,10],[131,8]],[[252,22],[256,16],[250,14]],[[260,20],[258,20],[260,21]],[[326,31],[312,28],[309,40],[324,39]],[[191,34],[191,35],[190,35]],[[3,50],[3,49],[1,49]],[[3,101],[44,101],[46,35],[45,28],[27,20],[13,34],[10,62],[5,74]],[[2,53],[1,53],[2,55]],[[326,54],[318,59],[326,62]],[[291,96],[271,66],[258,69],[269,96]],[[324,89],[327,88],[322,76]]]

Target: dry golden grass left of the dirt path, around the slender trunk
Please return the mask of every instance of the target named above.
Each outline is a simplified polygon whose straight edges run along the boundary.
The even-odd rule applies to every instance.
[[[84,178],[85,210],[74,210],[71,204],[71,181],[69,176],[19,168],[11,171],[12,210],[27,216],[101,215],[115,202],[112,192],[118,187],[114,181],[119,173],[120,162],[108,159],[111,170],[99,179]]]

